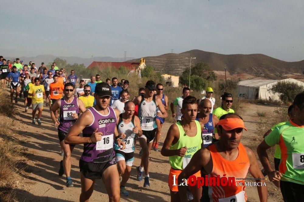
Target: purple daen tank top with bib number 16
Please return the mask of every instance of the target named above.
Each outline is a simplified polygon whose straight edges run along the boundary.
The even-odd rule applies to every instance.
[[[82,130],[83,137],[90,137],[98,129],[102,132],[102,140],[97,143],[84,144],[83,153],[80,157],[85,162],[103,163],[112,160],[115,157],[114,151],[114,130],[116,127],[116,114],[111,107],[108,107],[109,114],[101,115],[94,107],[89,110],[93,115],[93,123]]]

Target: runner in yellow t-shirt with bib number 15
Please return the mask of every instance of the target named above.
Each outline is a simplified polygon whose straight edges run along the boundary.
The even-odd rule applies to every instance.
[[[45,97],[44,86],[40,85],[40,79],[39,78],[35,78],[34,82],[35,82],[35,85],[33,85],[29,89],[29,93],[28,93],[30,96],[32,96],[32,107],[33,107],[33,112],[32,112],[33,122],[32,123],[36,124],[35,123],[35,119],[36,119],[35,116],[36,116],[36,111],[38,109],[37,123],[38,123],[38,125],[41,125],[40,118],[42,116],[43,99]]]

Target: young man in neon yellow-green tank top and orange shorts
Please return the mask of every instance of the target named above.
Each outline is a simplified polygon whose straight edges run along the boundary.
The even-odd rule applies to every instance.
[[[174,123],[170,126],[164,146],[161,149],[161,155],[169,157],[171,165],[169,173],[169,188],[171,201],[179,201],[178,186],[174,185],[177,181],[178,175],[190,162],[192,156],[201,149],[201,126],[195,120],[197,115],[196,98],[187,96],[182,103],[181,113],[183,120]],[[195,176],[200,177],[200,171],[195,173]],[[189,187],[195,201],[198,201],[202,195],[202,189],[196,187]]]

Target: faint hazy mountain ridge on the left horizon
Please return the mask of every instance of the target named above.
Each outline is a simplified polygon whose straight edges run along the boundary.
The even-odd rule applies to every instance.
[[[48,64],[53,62],[55,58],[64,59],[67,63],[74,64],[84,64],[86,67],[89,66],[93,61],[98,62],[124,62],[125,58],[112,58],[112,57],[93,57],[93,58],[80,58],[80,57],[65,57],[65,56],[53,56],[53,55],[39,55],[36,57],[19,57],[20,60],[24,61],[24,64],[29,64],[29,61],[35,62],[36,66],[40,66],[41,62]],[[10,59],[10,57],[6,57]],[[126,60],[134,59],[132,57],[126,57]],[[140,61],[140,60],[139,60]],[[137,61],[137,62],[139,62]],[[37,66],[37,67],[38,67]]]

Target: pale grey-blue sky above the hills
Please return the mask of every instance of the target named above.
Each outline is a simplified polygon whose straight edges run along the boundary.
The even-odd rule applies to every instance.
[[[303,0],[2,0],[0,55],[140,58],[200,49],[304,59]]]

